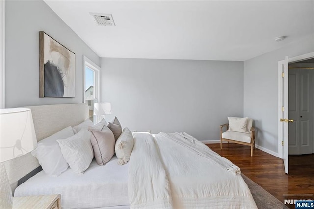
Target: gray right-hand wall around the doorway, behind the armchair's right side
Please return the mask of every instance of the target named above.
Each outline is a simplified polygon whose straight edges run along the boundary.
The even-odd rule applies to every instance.
[[[314,52],[314,35],[244,62],[244,115],[255,120],[256,144],[278,152],[278,61]]]

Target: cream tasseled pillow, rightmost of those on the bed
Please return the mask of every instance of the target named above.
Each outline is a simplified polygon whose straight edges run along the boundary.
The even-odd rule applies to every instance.
[[[118,164],[124,165],[129,162],[130,155],[134,146],[134,138],[128,128],[124,128],[121,135],[116,141],[115,152],[119,159]]]

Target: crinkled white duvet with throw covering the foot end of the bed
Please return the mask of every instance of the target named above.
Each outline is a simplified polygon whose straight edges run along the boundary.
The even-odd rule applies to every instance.
[[[188,134],[133,133],[131,209],[255,209],[240,169]]]

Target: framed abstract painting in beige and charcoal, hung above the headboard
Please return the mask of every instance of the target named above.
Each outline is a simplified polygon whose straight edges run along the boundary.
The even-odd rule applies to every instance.
[[[39,97],[75,98],[75,53],[39,32]]]

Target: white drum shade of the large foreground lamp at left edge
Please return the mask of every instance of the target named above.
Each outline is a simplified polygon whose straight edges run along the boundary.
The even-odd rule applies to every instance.
[[[30,109],[0,109],[0,162],[31,152],[37,139]]]

